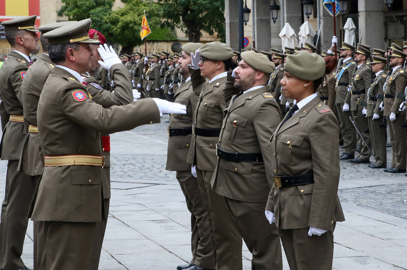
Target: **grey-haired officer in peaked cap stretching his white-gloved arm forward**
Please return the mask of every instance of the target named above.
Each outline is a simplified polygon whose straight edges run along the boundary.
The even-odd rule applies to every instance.
[[[97,222],[106,218],[101,183],[105,161],[99,132],[160,122],[161,113],[185,113],[186,109],[160,99],[107,109],[93,102],[80,75],[92,65],[89,44],[99,42],[89,38],[90,23],[85,19],[44,34],[56,65],[38,103],[45,167],[28,214],[32,220],[44,221],[47,270],[90,269]],[[131,88],[127,69],[113,48],[105,45],[99,53],[104,61],[100,63],[116,82]]]

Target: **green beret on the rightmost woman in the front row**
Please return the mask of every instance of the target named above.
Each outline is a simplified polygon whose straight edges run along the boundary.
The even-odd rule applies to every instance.
[[[310,68],[312,67],[312,68]],[[295,78],[315,81],[325,74],[325,60],[316,53],[298,51],[287,55],[284,70]]]

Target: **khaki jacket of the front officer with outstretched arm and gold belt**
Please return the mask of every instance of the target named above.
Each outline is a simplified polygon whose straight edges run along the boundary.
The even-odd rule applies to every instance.
[[[110,72],[130,84],[123,64],[113,65]],[[74,97],[77,91],[81,101]],[[100,133],[159,123],[160,113],[150,98],[104,109],[72,74],[55,67],[39,98],[37,119],[44,156],[101,156]],[[41,221],[105,220],[101,171],[91,165],[44,167],[28,216]]]

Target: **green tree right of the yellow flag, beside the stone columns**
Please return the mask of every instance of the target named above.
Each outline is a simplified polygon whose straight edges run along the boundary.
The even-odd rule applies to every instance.
[[[163,25],[178,27],[188,35],[190,42],[199,42],[201,31],[225,42],[224,0],[159,0],[163,4]]]

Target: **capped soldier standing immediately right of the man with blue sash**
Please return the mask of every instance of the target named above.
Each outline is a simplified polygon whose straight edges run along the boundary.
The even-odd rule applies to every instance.
[[[348,87],[348,95],[345,99],[345,104],[350,106],[352,118],[354,119],[357,129],[363,136],[364,141],[359,138],[359,155],[354,159],[349,159],[353,163],[369,163],[370,150],[372,142],[370,140],[369,124],[364,114],[363,107],[367,106],[366,92],[368,91],[371,81],[372,69],[366,64],[366,59],[370,57],[370,51],[365,47],[358,46],[354,54],[355,68],[352,73],[352,83]]]

